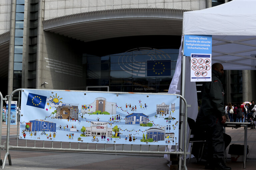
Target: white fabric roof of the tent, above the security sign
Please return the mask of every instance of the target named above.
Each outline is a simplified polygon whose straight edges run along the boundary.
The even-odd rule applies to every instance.
[[[256,1],[233,0],[183,14],[183,35],[256,36]]]

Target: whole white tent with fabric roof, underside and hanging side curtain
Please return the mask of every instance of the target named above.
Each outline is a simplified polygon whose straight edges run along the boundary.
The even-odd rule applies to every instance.
[[[233,0],[216,7],[184,12],[184,35],[212,35],[212,63],[224,70],[256,70],[256,1]],[[181,94],[192,105],[188,117],[198,112],[195,82],[190,82],[190,57],[182,45],[168,93]],[[181,75],[182,72],[182,75]]]

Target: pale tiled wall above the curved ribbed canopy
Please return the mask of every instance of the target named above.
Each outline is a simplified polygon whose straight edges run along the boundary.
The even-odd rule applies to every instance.
[[[44,19],[127,8],[205,9],[205,0],[45,0]]]

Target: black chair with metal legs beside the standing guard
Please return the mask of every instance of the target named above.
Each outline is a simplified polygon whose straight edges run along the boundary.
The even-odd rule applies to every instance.
[[[200,156],[200,161],[201,161],[202,160],[202,155],[203,155],[203,148],[204,148],[204,144],[206,143],[206,140],[202,140],[202,139],[200,140],[200,139],[194,137],[194,135],[195,135],[195,133],[197,131],[197,129],[196,129],[196,122],[193,119],[191,119],[191,118],[188,118],[187,120],[188,120],[188,126],[189,126],[187,150],[188,150],[189,143],[191,143],[188,163],[190,162],[190,159],[191,159],[191,153],[192,153],[193,143],[194,142],[197,142],[198,144],[200,144],[199,152],[198,152],[198,157],[196,157],[195,155],[194,156],[196,157],[196,160],[198,161],[199,155],[201,155]],[[201,145],[202,145],[202,147],[201,147]]]

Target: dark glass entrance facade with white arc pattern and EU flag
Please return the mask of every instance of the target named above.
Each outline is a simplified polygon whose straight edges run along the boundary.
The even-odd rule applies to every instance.
[[[168,92],[179,49],[140,47],[105,56],[83,54],[87,86],[109,91]]]

